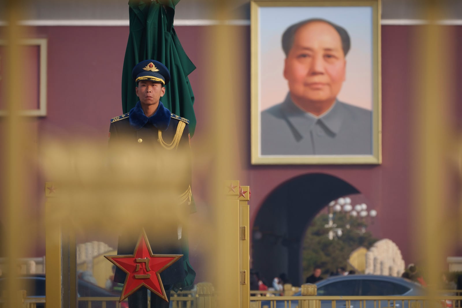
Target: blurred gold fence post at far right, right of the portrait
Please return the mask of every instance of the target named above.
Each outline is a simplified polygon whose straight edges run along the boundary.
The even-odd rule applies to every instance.
[[[416,100],[414,157],[416,158],[414,194],[416,201],[415,232],[419,235],[418,255],[424,258],[427,288],[430,296],[436,296],[439,273],[443,271],[442,261],[447,246],[443,214],[448,198],[444,182],[447,167],[446,152],[449,145],[449,127],[445,119],[450,99],[448,76],[448,28],[437,25],[441,16],[441,3],[424,0],[425,19],[428,24],[419,32],[420,42],[413,51],[418,58],[415,74]]]

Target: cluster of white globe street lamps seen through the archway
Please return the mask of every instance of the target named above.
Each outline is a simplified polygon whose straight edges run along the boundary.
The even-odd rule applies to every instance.
[[[328,233],[328,237],[330,240],[333,240],[336,237],[342,236],[342,228],[337,228],[337,224],[334,223],[334,212],[344,212],[346,213],[346,218],[349,219],[351,217],[361,217],[363,220],[365,217],[376,217],[377,211],[370,210],[367,211],[367,205],[365,203],[352,205],[351,199],[349,197],[339,198],[337,200],[333,200],[329,203],[329,220],[328,224],[324,225],[325,228],[330,229]],[[350,224],[346,224],[346,229],[350,229]],[[365,232],[365,227],[361,228],[361,232]]]

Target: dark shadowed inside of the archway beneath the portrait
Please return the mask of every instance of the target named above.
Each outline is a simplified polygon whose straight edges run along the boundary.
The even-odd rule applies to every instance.
[[[307,224],[328,203],[360,193],[333,175],[311,173],[276,187],[263,201],[252,232],[252,266],[267,283],[286,273],[293,285],[301,285],[302,240]]]

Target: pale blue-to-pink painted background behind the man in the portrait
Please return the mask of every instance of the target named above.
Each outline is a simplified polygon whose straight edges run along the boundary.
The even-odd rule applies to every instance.
[[[282,33],[310,18],[326,19],[345,28],[351,40],[346,54],[346,81],[338,99],[372,110],[372,8],[371,7],[260,7],[259,8],[260,110],[281,103],[288,87],[282,72],[286,58]]]

